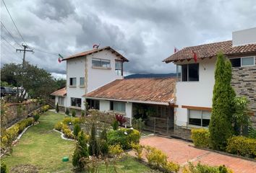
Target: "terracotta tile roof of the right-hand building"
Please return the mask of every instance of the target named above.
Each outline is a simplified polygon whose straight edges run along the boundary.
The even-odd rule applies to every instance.
[[[226,56],[241,56],[249,53],[256,54],[256,44],[238,45],[232,47],[232,41],[223,41],[218,43],[210,43],[205,45],[197,45],[183,48],[173,55],[169,56],[163,62],[170,63],[172,61],[189,60],[193,58],[194,51],[197,58],[212,58],[222,51]]]

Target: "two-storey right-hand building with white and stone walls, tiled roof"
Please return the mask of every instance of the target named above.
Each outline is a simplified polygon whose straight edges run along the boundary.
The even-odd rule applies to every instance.
[[[176,64],[174,131],[210,123],[216,56],[222,51],[232,64],[231,85],[249,99],[256,127],[256,28],[233,32],[232,40],[183,48],[165,60]],[[194,60],[194,53],[197,61]]]

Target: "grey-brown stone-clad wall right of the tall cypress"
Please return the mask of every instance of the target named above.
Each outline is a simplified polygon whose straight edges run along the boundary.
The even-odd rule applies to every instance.
[[[249,108],[253,112],[252,126],[256,128],[256,66],[233,67],[231,85],[236,94],[249,100]]]

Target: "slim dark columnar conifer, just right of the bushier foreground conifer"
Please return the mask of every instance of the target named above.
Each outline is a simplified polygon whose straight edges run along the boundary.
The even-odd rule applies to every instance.
[[[94,123],[90,130],[89,154],[90,156],[97,156],[97,157],[100,154],[100,147],[98,145],[98,140],[96,138],[96,127]]]

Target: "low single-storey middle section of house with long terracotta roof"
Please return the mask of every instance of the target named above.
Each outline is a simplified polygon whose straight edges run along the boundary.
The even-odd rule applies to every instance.
[[[156,128],[174,127],[174,78],[116,79],[85,94],[90,108],[117,112],[127,117],[148,116],[158,120]],[[154,119],[155,120],[155,119]],[[168,120],[168,124],[167,123]],[[153,122],[148,121],[148,125]]]

